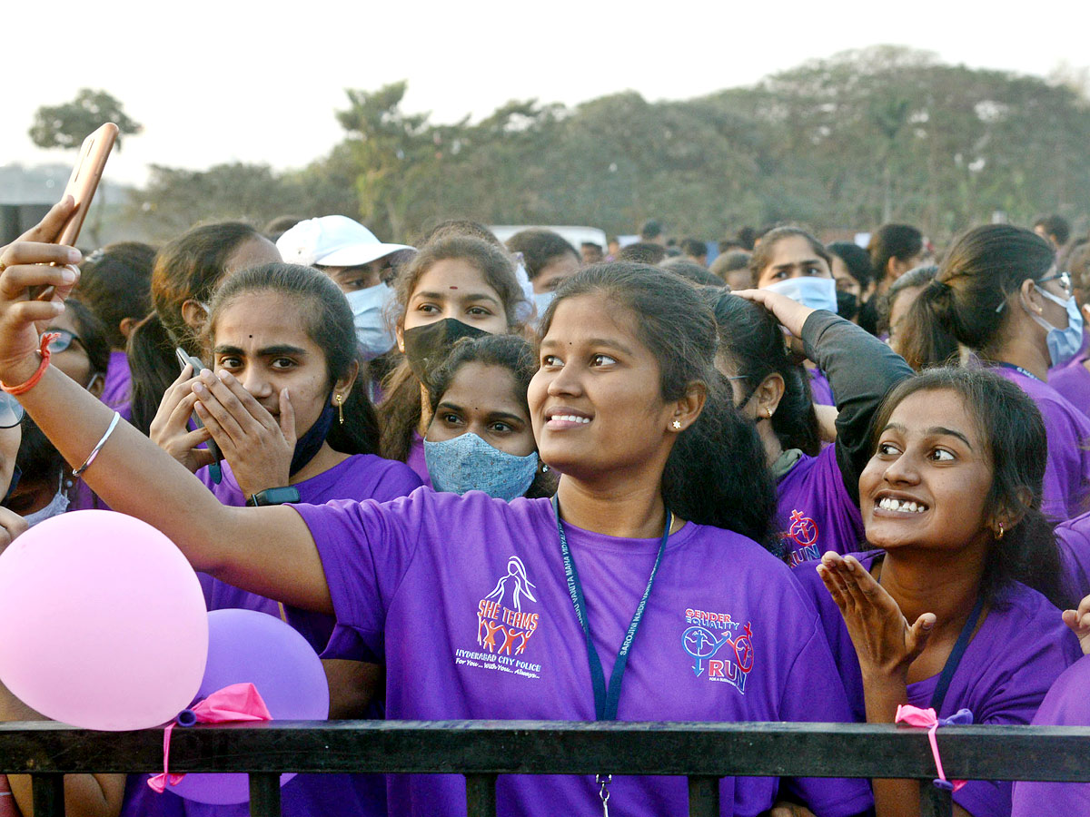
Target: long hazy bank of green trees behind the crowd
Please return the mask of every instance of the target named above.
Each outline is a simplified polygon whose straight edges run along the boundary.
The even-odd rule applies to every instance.
[[[388,241],[450,217],[610,233],[655,217],[707,239],[897,220],[945,240],[995,210],[1018,223],[1090,212],[1087,86],[1069,71],[1046,82],[881,46],[699,99],[514,100],[444,125],[403,110],[401,82],[346,92],[346,139],[304,170],[158,168],[143,200],[170,230],[343,212]]]

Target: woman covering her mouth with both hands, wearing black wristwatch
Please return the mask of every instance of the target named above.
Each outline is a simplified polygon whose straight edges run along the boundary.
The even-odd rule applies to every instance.
[[[193,470],[210,454],[196,448],[211,438],[223,453],[222,478],[197,476],[225,505],[288,501],[386,502],[411,493],[421,480],[405,465],[375,455],[374,410],[359,382],[352,314],[344,296],[311,267],[269,264],[229,278],[209,304],[205,356],[230,392],[214,397],[189,366],[164,395],[152,439]],[[196,412],[204,427],[189,429]],[[283,618],[318,653],[334,633],[329,615],[282,608],[201,573],[209,610],[259,610]],[[374,661],[327,660],[330,717],[382,717],[368,708],[380,682]],[[284,813],[376,815],[383,781],[375,776],[301,775],[283,789]],[[137,805],[138,804],[138,807]],[[148,810],[142,810],[143,808]],[[246,806],[202,807],[169,792],[130,785],[126,814],[170,817],[244,817]]]

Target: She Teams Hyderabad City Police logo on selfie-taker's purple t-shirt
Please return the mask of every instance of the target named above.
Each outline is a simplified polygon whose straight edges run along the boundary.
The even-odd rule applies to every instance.
[[[538,614],[523,609],[526,602],[537,601],[534,587],[522,560],[517,556],[508,559],[507,573],[477,602],[477,648],[455,650],[455,662],[540,678],[541,664],[523,657],[537,630]]]

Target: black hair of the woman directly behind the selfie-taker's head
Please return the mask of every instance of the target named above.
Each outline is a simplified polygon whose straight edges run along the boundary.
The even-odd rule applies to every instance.
[[[719,329],[719,356],[729,359],[746,378],[747,397],[752,397],[768,375],[784,378],[784,397],[770,420],[779,444],[816,456],[821,434],[810,378],[788,351],[779,322],[767,309],[738,295],[705,290],[703,296]]]

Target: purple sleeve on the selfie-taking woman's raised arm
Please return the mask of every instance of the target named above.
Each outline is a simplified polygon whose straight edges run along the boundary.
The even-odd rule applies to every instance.
[[[386,504],[292,505],[314,537],[334,602],[337,626],[324,658],[383,662],[386,610],[426,537],[426,500],[435,496],[416,490]]]

